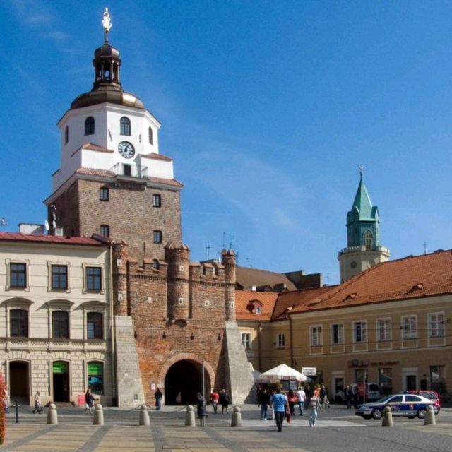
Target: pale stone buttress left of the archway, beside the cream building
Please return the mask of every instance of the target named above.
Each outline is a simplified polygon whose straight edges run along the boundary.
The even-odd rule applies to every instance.
[[[131,317],[115,316],[117,405],[133,408],[145,403]]]

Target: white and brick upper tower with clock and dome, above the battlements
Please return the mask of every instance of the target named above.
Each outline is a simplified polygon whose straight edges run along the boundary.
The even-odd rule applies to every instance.
[[[163,259],[182,241],[180,191],[172,159],[160,154],[160,122],[121,83],[119,50],[95,50],[94,83],[59,120],[61,166],[47,204],[51,233],[102,234],[129,245],[136,258]]]

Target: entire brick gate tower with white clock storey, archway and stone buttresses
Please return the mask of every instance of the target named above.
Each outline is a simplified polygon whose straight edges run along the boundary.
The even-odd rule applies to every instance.
[[[159,153],[160,122],[120,81],[119,51],[95,50],[93,89],[60,119],[61,167],[45,203],[53,233],[109,237],[112,350],[119,406],[194,403],[226,388],[242,403],[254,387],[235,319],[235,255],[190,261],[182,244],[172,160]],[[202,387],[202,382],[204,386]]]

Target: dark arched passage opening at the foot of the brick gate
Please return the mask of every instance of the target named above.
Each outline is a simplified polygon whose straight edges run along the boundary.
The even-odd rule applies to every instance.
[[[196,403],[196,393],[202,393],[203,366],[191,359],[182,359],[169,367],[165,375],[165,404],[190,405]],[[210,378],[204,371],[205,395],[210,391]]]

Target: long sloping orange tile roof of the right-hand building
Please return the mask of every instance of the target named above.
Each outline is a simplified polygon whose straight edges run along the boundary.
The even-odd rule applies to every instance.
[[[331,287],[322,295],[299,299],[291,312],[351,307],[451,293],[452,251],[441,250],[379,263],[345,283]],[[285,296],[281,294],[281,300]],[[278,304],[279,302],[280,299]]]

